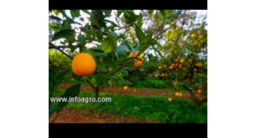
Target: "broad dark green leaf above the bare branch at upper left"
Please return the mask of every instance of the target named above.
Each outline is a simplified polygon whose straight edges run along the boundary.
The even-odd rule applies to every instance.
[[[52,38],[53,41],[60,38],[70,38],[75,37],[75,31],[73,29],[64,29],[56,32]]]

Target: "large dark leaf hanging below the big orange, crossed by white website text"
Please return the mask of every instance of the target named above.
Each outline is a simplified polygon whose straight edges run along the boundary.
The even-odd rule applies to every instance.
[[[69,87],[66,92],[61,96],[63,98],[68,98],[69,97],[76,97],[79,95],[80,93],[80,86],[81,84],[75,84],[71,87]],[[59,102],[58,103],[58,108],[57,108],[57,112],[60,112],[63,110],[63,108],[68,104],[68,102]]]

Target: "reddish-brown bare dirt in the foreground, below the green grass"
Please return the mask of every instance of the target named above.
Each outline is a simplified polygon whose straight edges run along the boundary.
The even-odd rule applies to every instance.
[[[51,123],[56,112],[49,119]],[[119,116],[113,114],[99,113],[88,110],[64,109],[61,111],[54,123],[150,123],[134,117]]]

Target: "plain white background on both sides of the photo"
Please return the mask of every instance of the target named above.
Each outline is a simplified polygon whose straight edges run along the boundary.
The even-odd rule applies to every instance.
[[[207,13],[208,137],[255,138],[255,3],[208,1]],[[46,138],[48,1],[1,1],[0,14],[0,137]]]

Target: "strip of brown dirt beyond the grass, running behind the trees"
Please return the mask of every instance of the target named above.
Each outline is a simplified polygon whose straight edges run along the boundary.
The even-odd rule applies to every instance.
[[[59,89],[67,89],[72,84],[60,84]],[[168,89],[152,89],[152,88],[141,88],[136,89],[136,92],[133,91],[134,88],[130,88],[130,90],[123,90],[122,87],[106,87],[100,90],[100,93],[112,93],[112,94],[131,94],[131,95],[138,95],[138,96],[151,96],[151,95],[160,95],[160,96],[168,96],[171,95],[170,90]],[[81,91],[93,91],[93,88],[90,85],[81,85]],[[182,98],[190,99],[190,94],[187,92],[182,93]],[[172,94],[173,97],[174,94]]]

